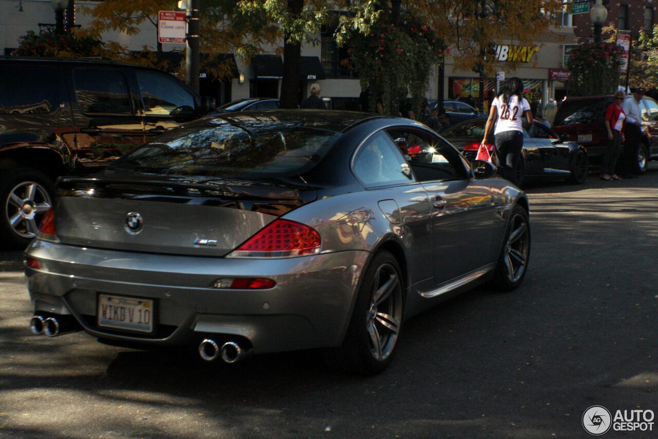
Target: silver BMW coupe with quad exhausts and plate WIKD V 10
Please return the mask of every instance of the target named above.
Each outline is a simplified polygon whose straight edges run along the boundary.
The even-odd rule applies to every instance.
[[[36,334],[377,373],[405,319],[528,267],[524,193],[401,118],[212,116],[58,185],[26,250]]]

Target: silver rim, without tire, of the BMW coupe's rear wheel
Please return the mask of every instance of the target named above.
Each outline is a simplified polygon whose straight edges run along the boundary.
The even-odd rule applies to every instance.
[[[378,361],[395,348],[402,319],[402,287],[395,267],[382,264],[372,279],[366,317],[370,354]]]

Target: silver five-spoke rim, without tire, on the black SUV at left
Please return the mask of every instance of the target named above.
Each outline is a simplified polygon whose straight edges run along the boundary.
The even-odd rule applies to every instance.
[[[41,218],[52,204],[45,187],[35,181],[22,181],[7,196],[5,216],[16,235],[34,238],[39,232]]]

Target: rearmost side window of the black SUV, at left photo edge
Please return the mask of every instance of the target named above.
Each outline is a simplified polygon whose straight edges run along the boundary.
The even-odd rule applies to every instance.
[[[57,68],[0,66],[0,114],[39,114],[53,109]]]

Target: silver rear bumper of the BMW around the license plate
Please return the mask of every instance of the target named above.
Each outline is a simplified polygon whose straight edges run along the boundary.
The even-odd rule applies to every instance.
[[[145,344],[245,338],[254,352],[338,346],[370,253],[278,260],[203,258],[34,241],[26,267],[35,312],[72,314],[90,335]],[[222,277],[266,277],[267,290],[216,289]],[[98,327],[99,293],[155,301],[153,334]]]

